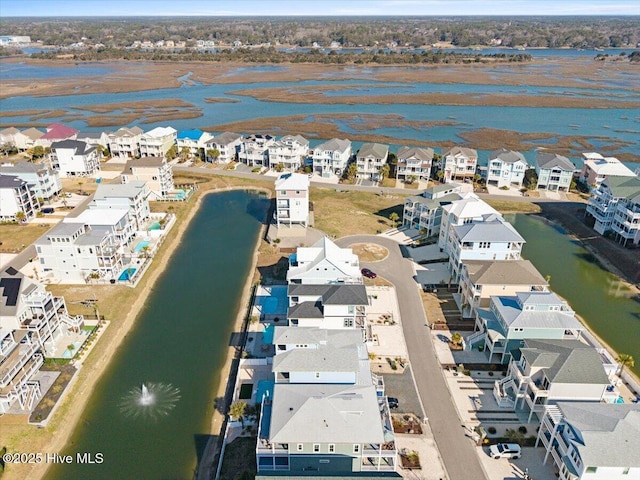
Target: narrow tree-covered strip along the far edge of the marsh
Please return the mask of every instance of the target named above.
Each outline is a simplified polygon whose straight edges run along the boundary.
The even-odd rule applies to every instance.
[[[49,51],[31,55],[32,58],[56,59],[61,52]],[[362,53],[281,52],[269,48],[226,49],[215,53],[186,50],[184,52],[144,51],[141,49],[98,48],[76,52],[64,52],[64,57],[73,55],[77,61],[100,60],[148,60],[148,61],[196,61],[196,62],[248,62],[248,63],[325,63],[325,64],[420,64],[420,63],[482,63],[482,62],[528,62],[531,55],[518,54],[464,54],[446,50],[429,50],[422,53],[393,51],[366,51]]]

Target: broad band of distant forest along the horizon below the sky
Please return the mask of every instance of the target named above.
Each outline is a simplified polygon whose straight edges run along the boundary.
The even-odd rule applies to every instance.
[[[46,45],[134,41],[211,40],[231,45],[297,45],[418,48],[437,42],[458,47],[633,48],[640,43],[638,17],[349,17],[326,18],[23,18],[0,20],[4,35],[29,35]]]

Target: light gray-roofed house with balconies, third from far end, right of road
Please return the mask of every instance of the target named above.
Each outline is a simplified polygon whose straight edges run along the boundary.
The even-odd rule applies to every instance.
[[[449,269],[460,280],[462,262],[468,260],[520,260],[525,239],[502,218],[454,225]]]

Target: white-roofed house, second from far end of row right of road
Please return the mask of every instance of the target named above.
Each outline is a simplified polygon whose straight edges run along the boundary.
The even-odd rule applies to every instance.
[[[442,225],[438,234],[438,246],[449,254],[453,248],[453,227],[465,223],[480,222],[502,217],[488,203],[473,193],[466,193],[460,200],[442,205]]]

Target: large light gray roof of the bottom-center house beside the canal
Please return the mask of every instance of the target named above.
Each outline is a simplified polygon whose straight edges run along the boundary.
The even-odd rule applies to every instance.
[[[371,385],[276,383],[272,402],[271,443],[384,443]]]

